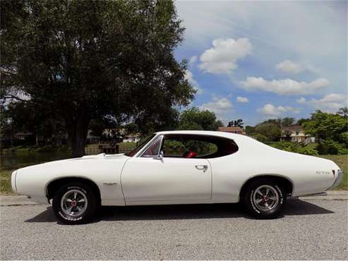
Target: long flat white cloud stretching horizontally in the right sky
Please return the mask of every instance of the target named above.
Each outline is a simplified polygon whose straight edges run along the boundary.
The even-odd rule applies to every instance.
[[[263,90],[275,92],[278,95],[308,95],[330,84],[325,78],[318,78],[311,83],[298,82],[292,79],[265,80],[262,77],[248,77],[241,81],[245,90]]]

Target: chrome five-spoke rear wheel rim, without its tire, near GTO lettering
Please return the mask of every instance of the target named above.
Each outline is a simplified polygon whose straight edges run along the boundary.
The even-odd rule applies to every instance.
[[[258,210],[269,211],[277,207],[279,193],[269,185],[262,185],[256,188],[253,193],[253,202]]]

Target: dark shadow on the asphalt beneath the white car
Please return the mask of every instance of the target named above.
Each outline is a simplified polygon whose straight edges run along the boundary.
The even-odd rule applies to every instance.
[[[312,203],[302,200],[288,200],[284,216],[306,214],[332,214]],[[202,205],[154,205],[128,207],[101,207],[95,219],[98,221],[127,221],[127,220],[170,220],[170,219],[232,219],[244,217],[252,219],[240,204],[202,204]],[[52,207],[25,222],[56,222]]]

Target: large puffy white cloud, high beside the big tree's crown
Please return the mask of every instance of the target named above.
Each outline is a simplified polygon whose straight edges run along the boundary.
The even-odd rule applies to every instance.
[[[207,73],[230,74],[237,67],[237,60],[251,53],[248,38],[215,39],[212,46],[200,56],[199,68]]]

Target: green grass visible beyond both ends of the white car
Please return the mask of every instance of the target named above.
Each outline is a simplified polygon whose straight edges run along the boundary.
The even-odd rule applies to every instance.
[[[132,144],[132,142],[129,142],[130,144],[126,144],[124,146],[128,146],[126,148],[129,148],[129,146],[135,146]],[[320,157],[323,157],[325,159],[330,159],[338,166],[340,166],[340,169],[344,171],[343,181],[340,183],[340,186],[335,188],[335,190],[348,190],[348,155],[321,155]],[[11,189],[11,173],[15,169],[22,168],[23,166],[26,166],[26,164],[18,164],[17,166],[1,166],[0,168],[0,194],[1,195],[13,195],[13,191]]]

